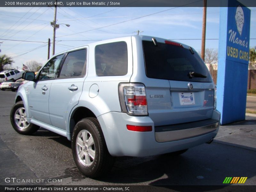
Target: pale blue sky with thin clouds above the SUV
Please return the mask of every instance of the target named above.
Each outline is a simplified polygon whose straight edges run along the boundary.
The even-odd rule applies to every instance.
[[[256,7],[250,9],[250,38],[256,38]],[[61,25],[56,31],[55,53],[94,40],[135,35],[138,29],[143,31],[141,35],[186,39],[175,41],[188,44],[200,51],[202,12],[202,7],[58,7],[57,23]],[[210,39],[219,38],[219,12],[219,7],[207,8],[206,39],[209,40],[206,40],[206,48],[218,49],[218,40]],[[0,44],[0,54],[13,57],[13,67],[22,67],[22,64],[30,60],[45,63],[48,51],[46,42],[48,38],[51,38],[52,42],[53,28],[50,21],[53,20],[53,16],[54,8],[50,7],[0,7],[1,39],[43,42],[0,40],[3,42]],[[69,24],[70,27],[62,23]],[[88,32],[70,35],[82,31]],[[254,46],[256,39],[251,39],[250,47]]]

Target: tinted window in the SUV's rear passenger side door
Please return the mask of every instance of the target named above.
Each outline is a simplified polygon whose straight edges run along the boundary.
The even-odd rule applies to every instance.
[[[60,71],[59,78],[85,75],[86,49],[69,52]]]

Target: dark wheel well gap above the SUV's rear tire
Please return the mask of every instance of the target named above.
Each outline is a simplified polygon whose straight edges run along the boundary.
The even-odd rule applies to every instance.
[[[69,133],[72,133],[73,132],[73,129],[76,125],[76,123],[85,118],[85,117],[95,117],[96,116],[94,115],[94,113],[86,108],[86,107],[79,107],[77,108],[71,115],[70,117],[70,122],[69,122]]]

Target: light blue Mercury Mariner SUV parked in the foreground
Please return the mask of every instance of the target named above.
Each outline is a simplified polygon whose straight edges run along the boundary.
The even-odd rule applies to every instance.
[[[72,142],[79,170],[94,178],[114,156],[185,152],[219,129],[212,77],[197,52],[152,36],[99,41],[54,55],[26,72],[11,111],[20,134],[39,127]],[[49,146],[50,147],[50,146]]]

